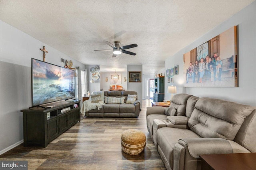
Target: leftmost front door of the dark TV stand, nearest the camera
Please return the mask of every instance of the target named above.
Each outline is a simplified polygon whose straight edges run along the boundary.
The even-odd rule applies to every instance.
[[[58,118],[52,118],[47,122],[48,129],[48,143],[54,140],[59,134],[58,130]]]

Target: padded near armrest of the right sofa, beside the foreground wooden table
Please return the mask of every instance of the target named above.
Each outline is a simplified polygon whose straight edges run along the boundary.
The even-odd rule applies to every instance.
[[[194,158],[199,158],[202,154],[233,153],[231,144],[223,138],[182,138],[178,144],[188,148],[189,154]]]

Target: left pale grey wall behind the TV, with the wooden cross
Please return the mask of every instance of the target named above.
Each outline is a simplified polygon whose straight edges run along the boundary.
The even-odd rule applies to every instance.
[[[31,58],[43,60],[40,48],[46,46],[46,62],[64,66],[60,56],[85,65],[49,45],[0,21],[0,154],[23,142],[23,116],[20,110],[32,106]]]

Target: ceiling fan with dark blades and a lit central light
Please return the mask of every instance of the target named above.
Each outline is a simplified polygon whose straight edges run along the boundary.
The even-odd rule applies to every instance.
[[[129,48],[133,48],[133,47],[138,47],[138,45],[136,43],[130,44],[130,45],[124,45],[124,46],[120,47],[121,42],[118,42],[118,41],[114,42],[115,45],[113,45],[112,43],[110,43],[108,41],[103,41],[103,42],[108,44],[113,49],[99,49],[99,50],[94,50],[94,51],[113,51],[112,57],[116,57],[116,55],[119,55],[121,53],[136,55],[136,53],[125,50],[125,49],[129,49]]]

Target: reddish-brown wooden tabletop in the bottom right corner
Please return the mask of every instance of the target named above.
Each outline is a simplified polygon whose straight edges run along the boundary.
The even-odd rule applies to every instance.
[[[256,153],[200,155],[201,170],[255,170]]]

